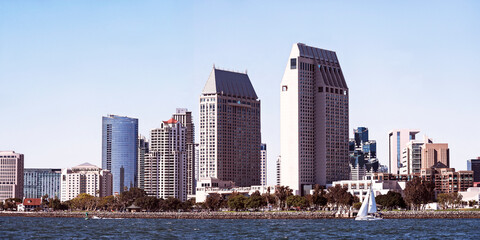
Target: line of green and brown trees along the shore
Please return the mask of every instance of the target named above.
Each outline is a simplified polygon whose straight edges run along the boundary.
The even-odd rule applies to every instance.
[[[195,199],[181,201],[172,197],[166,199],[156,198],[147,196],[143,189],[130,188],[118,196],[94,197],[82,193],[76,198],[65,202],[61,202],[57,197],[49,198],[44,196],[41,199],[41,205],[30,210],[34,212],[47,211],[49,212],[48,214],[56,214],[58,212],[60,215],[76,215],[77,213],[75,212],[82,211],[99,212],[102,214],[123,214],[126,211],[133,210],[145,212],[145,216],[148,214],[156,216],[157,212],[161,213],[159,216],[176,216],[176,213],[182,212],[181,214],[183,215],[181,216],[191,216],[192,218],[196,218],[194,216],[204,216],[205,214],[207,214],[206,216],[215,215],[217,214],[216,212],[219,212],[218,214],[220,215],[218,216],[223,216],[222,214],[227,214],[226,216],[237,216],[236,214],[244,216],[242,212],[246,212],[245,216],[262,216],[266,214],[265,218],[268,218],[282,215],[283,211],[294,210],[296,214],[302,215],[302,218],[312,214],[315,216],[314,218],[328,218],[332,214],[333,216],[342,214],[342,216],[352,217],[361,206],[358,197],[352,195],[346,187],[340,185],[329,187],[327,190],[319,185],[315,185],[312,194],[306,196],[293,195],[292,192],[288,186],[276,186],[275,189],[268,188],[264,194],[260,194],[258,191],[250,196],[236,192],[228,196],[214,193],[210,194],[205,202],[195,202]],[[477,204],[476,202],[462,202],[461,195],[458,193],[438,194],[438,196],[435,196],[433,184],[420,179],[409,181],[403,195],[390,191],[384,195],[377,195],[375,200],[379,206],[378,210],[386,211],[385,214],[393,214],[392,216],[400,216],[402,214],[410,216],[411,212],[416,213],[418,210],[424,210],[428,203],[434,201],[437,201],[443,209],[451,208],[450,210],[455,210],[467,204],[470,206]],[[16,203],[19,202],[21,202],[20,199],[7,199],[4,203],[0,202],[0,210],[3,212],[15,211]],[[399,213],[390,213],[392,210],[399,210]],[[473,215],[477,216],[474,210],[476,209],[473,209]],[[234,211],[235,214],[225,213],[225,211]],[[419,214],[422,212],[419,212]],[[464,213],[464,211],[461,212]],[[285,214],[286,218],[296,216],[290,212]],[[425,214],[425,216],[432,215],[431,213]],[[7,215],[10,214],[7,213]]]

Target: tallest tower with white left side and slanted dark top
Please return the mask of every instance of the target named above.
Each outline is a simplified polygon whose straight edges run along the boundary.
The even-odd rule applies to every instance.
[[[348,86],[335,52],[294,44],[280,93],[281,185],[349,178]]]

